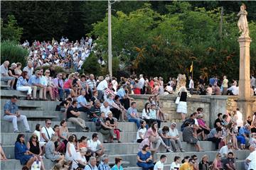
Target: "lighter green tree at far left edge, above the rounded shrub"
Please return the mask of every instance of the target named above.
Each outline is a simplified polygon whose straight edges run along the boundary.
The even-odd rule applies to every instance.
[[[13,15],[8,16],[6,23],[1,18],[1,40],[19,42],[22,31],[23,29],[17,25],[16,18]]]

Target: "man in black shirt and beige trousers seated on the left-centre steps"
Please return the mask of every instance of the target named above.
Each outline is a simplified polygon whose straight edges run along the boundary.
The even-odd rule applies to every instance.
[[[67,111],[67,120],[79,125],[83,132],[88,132],[89,128],[85,126],[85,120],[78,118],[80,112],[78,111],[78,101],[73,101],[72,105],[69,106]]]

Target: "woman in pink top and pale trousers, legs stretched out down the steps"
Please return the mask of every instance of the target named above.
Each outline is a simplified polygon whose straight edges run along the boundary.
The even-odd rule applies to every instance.
[[[162,138],[159,136],[159,133],[157,132],[157,130],[158,130],[157,123],[156,123],[156,122],[152,123],[151,128],[149,128],[149,129],[146,131],[146,135],[145,135],[144,138],[148,138],[149,136],[153,136],[153,137],[155,137],[154,143],[156,144],[156,147],[155,147],[156,149],[158,149],[160,145],[163,145],[163,146],[166,148],[166,150],[167,150],[168,152],[173,152],[173,151],[171,150],[171,147],[167,146],[167,145],[164,143],[164,141],[162,140]]]

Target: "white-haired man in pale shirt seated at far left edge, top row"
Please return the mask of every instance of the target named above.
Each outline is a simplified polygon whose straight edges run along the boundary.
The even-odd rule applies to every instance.
[[[1,70],[1,81],[7,81],[7,85],[9,86],[7,89],[14,89],[14,82],[15,78],[10,77],[8,74],[8,66],[10,62],[5,61],[3,64],[1,64],[0,70]]]

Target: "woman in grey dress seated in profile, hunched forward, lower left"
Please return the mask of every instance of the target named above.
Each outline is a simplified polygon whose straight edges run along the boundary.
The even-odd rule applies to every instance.
[[[50,159],[53,162],[58,162],[60,164],[63,163],[65,157],[63,154],[60,154],[60,152],[55,151],[55,145],[54,142],[56,142],[58,140],[58,136],[57,135],[52,135],[52,137],[50,137],[50,141],[47,142],[46,144],[46,154],[45,157],[47,159]]]

